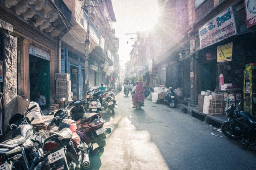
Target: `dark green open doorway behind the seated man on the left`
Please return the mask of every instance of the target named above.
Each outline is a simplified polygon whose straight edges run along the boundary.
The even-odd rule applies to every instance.
[[[30,101],[35,101],[40,91],[46,98],[46,108],[50,106],[50,61],[29,55]]]

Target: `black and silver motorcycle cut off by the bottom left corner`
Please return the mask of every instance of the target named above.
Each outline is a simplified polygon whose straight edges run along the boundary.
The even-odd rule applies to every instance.
[[[4,135],[12,130],[12,138],[0,143],[0,169],[26,170],[40,169],[44,163],[41,137],[34,130],[26,115],[36,105],[26,109],[23,115],[17,113],[10,120]]]

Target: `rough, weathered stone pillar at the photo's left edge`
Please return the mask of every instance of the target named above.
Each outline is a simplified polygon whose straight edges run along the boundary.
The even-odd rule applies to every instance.
[[[4,28],[5,24],[11,29]],[[6,130],[10,118],[17,113],[17,38],[11,36],[9,31],[12,31],[12,26],[0,20],[1,59],[3,60],[3,131]]]

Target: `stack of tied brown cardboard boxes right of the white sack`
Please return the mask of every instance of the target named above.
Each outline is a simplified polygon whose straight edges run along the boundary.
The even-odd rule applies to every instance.
[[[209,115],[211,116],[223,115],[223,107],[224,107],[223,95],[222,94],[212,95],[212,99],[210,99]]]

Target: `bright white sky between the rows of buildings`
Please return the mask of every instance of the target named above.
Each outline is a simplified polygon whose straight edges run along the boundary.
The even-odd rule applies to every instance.
[[[157,0],[112,0],[116,22],[112,26],[115,36],[119,38],[118,54],[120,66],[130,60],[129,53],[136,35],[125,35],[129,33],[151,30],[157,21]],[[128,44],[127,44],[128,42]]]

